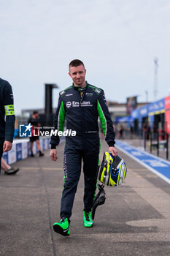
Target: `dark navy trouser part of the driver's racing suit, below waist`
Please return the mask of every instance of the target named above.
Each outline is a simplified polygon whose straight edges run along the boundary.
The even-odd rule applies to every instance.
[[[84,211],[91,211],[98,176],[99,145],[98,134],[77,136],[74,139],[66,138],[63,155],[64,184],[61,197],[61,218],[70,218],[72,215],[82,162],[85,181]]]

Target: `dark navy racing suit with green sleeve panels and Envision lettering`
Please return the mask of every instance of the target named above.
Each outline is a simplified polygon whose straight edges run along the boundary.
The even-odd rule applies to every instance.
[[[61,217],[69,218],[72,215],[82,160],[85,179],[84,210],[90,211],[92,208],[100,151],[98,116],[105,140],[109,146],[114,146],[115,133],[104,91],[86,83],[85,88],[72,85],[60,92],[53,126],[58,131],[63,131],[66,120],[66,129],[76,131],[76,136],[66,137],[63,156],[64,185],[61,198]],[[59,137],[53,135],[50,140],[51,148],[55,148],[58,143]]]

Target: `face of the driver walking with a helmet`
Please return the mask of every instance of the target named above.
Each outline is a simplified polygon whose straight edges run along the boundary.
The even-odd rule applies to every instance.
[[[74,86],[85,86],[86,69],[83,65],[77,67],[69,67],[69,75],[73,80]]]

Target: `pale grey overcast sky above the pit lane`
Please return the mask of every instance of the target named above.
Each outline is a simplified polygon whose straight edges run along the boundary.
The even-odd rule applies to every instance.
[[[81,59],[89,83],[107,99],[153,100],[170,89],[170,1],[0,0],[0,77],[15,94],[15,112],[44,107],[44,83],[70,86],[68,64]],[[57,105],[55,90],[53,105]]]

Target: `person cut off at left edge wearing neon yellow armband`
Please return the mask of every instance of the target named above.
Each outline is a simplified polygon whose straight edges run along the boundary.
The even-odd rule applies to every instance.
[[[7,152],[12,148],[15,131],[13,104],[12,87],[6,80],[0,78],[0,169],[3,151]]]

